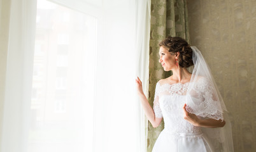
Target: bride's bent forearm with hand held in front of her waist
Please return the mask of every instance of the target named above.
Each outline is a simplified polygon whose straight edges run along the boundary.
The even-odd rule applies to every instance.
[[[217,128],[224,127],[225,121],[223,120],[215,120],[213,118],[200,119],[196,115],[189,113],[186,108],[186,104],[183,106],[184,111],[184,119],[190,122],[190,124],[197,127],[207,127],[207,128]]]

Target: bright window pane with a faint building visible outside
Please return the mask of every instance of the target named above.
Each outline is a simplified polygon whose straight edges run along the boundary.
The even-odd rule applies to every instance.
[[[92,151],[97,19],[38,0],[36,22],[29,152]]]

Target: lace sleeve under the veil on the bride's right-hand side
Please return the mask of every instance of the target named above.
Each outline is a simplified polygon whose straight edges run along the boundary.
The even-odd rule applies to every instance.
[[[223,111],[213,84],[205,78],[200,78],[190,91],[187,101],[187,111],[199,117],[224,120]],[[192,102],[189,102],[192,101]]]

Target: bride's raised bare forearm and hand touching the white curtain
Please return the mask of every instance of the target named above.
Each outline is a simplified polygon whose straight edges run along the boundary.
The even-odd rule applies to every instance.
[[[162,121],[162,118],[155,117],[155,113],[153,112],[152,107],[148,103],[148,99],[146,99],[146,96],[143,93],[141,80],[139,80],[139,78],[136,79],[136,85],[137,85],[139,100],[141,101],[141,106],[145,111],[146,118],[148,118],[148,120],[150,121],[153,127],[158,127],[160,122]]]

